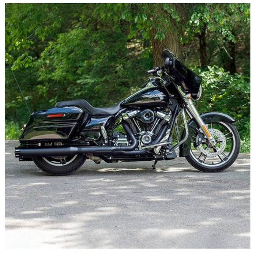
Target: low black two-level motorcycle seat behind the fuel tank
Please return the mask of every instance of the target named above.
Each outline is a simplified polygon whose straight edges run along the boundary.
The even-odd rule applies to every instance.
[[[60,106],[78,106],[79,108],[88,112],[91,116],[111,116],[116,114],[121,109],[121,104],[124,100],[118,102],[116,105],[108,108],[94,108],[85,99],[75,99],[72,101],[59,101],[56,103],[56,107]]]

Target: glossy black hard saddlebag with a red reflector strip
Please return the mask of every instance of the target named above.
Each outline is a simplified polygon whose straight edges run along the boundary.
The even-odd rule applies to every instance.
[[[86,125],[88,114],[76,106],[60,106],[34,112],[20,135],[20,142],[71,140]]]

